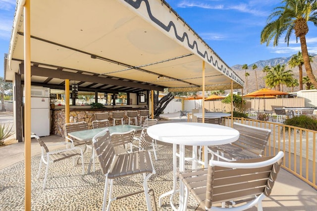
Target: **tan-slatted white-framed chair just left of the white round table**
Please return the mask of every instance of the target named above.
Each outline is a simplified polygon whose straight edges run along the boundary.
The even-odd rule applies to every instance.
[[[105,131],[106,134],[104,136],[101,136],[105,133]],[[149,192],[151,190],[149,190],[148,188],[147,180],[151,177],[152,174],[155,174],[155,170],[152,163],[150,152],[137,151],[133,153],[116,155],[109,131],[107,129],[105,131],[102,131],[93,138],[93,145],[96,150],[97,158],[100,162],[102,173],[106,176],[103,211],[109,211],[111,202],[114,200],[129,197],[142,192],[145,193],[147,210],[152,211],[151,200],[149,196]],[[142,184],[144,191],[124,193],[123,196],[112,197],[114,179],[137,174],[143,174],[144,180]],[[108,185],[110,186],[109,199],[106,208]]]

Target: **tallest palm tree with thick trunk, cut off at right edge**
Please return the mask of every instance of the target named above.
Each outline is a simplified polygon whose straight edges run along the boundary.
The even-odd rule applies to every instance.
[[[317,26],[317,1],[283,0],[282,3],[284,5],[276,7],[275,11],[268,16],[267,24],[261,32],[261,44],[266,43],[266,46],[268,46],[270,41],[273,40],[273,46],[277,46],[279,38],[283,33],[286,33],[284,41],[288,45],[294,30],[296,39],[300,38],[307,75],[314,86],[317,87],[317,80],[313,74],[306,43],[306,34],[309,30],[307,22],[312,21]]]

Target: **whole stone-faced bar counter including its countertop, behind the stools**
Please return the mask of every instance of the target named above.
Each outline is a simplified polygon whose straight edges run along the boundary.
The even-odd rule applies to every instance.
[[[80,108],[69,109],[69,122],[81,122],[85,121],[88,123],[88,128],[93,128],[92,121],[96,120],[95,113],[108,112],[108,120],[110,125],[113,124],[112,111],[124,111],[123,124],[128,124],[129,119],[127,117],[127,111],[138,111],[138,122],[140,120],[139,110],[147,110],[147,107],[116,107],[116,108],[86,108],[83,106],[76,106]],[[64,106],[55,106],[51,109],[51,134],[58,135],[61,137],[65,136],[65,109]],[[134,120],[131,124],[135,124]]]

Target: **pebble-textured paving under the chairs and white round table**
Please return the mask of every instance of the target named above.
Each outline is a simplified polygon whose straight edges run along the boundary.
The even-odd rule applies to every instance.
[[[159,196],[172,189],[172,147],[158,142],[158,160],[152,159],[156,174],[148,180],[150,189],[154,190],[155,202],[159,206]],[[188,156],[191,152],[186,152]],[[62,160],[50,165],[47,188],[43,190],[45,165],[42,166],[40,178],[37,179],[40,156],[31,159],[31,210],[32,211],[100,211],[102,210],[105,176],[99,163],[96,171],[87,174],[91,152],[86,152],[85,174],[82,175],[81,165],[73,166],[71,159]],[[187,163],[190,167],[190,162]],[[116,179],[113,196],[143,190],[142,175]],[[24,161],[0,170],[0,211],[24,211]],[[177,205],[177,196],[173,199]],[[197,204],[190,197],[188,210],[195,210]],[[146,211],[144,193],[119,199],[111,203],[111,211]],[[163,198],[159,211],[170,211],[169,196]]]

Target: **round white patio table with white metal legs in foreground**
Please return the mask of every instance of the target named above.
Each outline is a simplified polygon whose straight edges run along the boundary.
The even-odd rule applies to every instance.
[[[228,144],[239,138],[239,131],[231,127],[216,124],[206,124],[198,122],[172,122],[156,124],[147,129],[147,133],[153,139],[173,144],[173,190],[162,194],[159,197],[159,206],[161,199],[171,195],[170,205],[173,210],[177,210],[172,203],[173,195],[179,192],[180,205],[183,205],[184,186],[180,181],[179,190],[177,185],[177,156],[179,156],[179,170],[185,170],[185,145],[193,146],[193,168],[197,160],[197,146],[204,147],[204,158],[208,158],[207,147],[214,145]],[[179,154],[177,153],[177,145],[179,145]],[[208,159],[204,161],[205,166],[208,165]],[[182,210],[180,207],[179,210]]]

